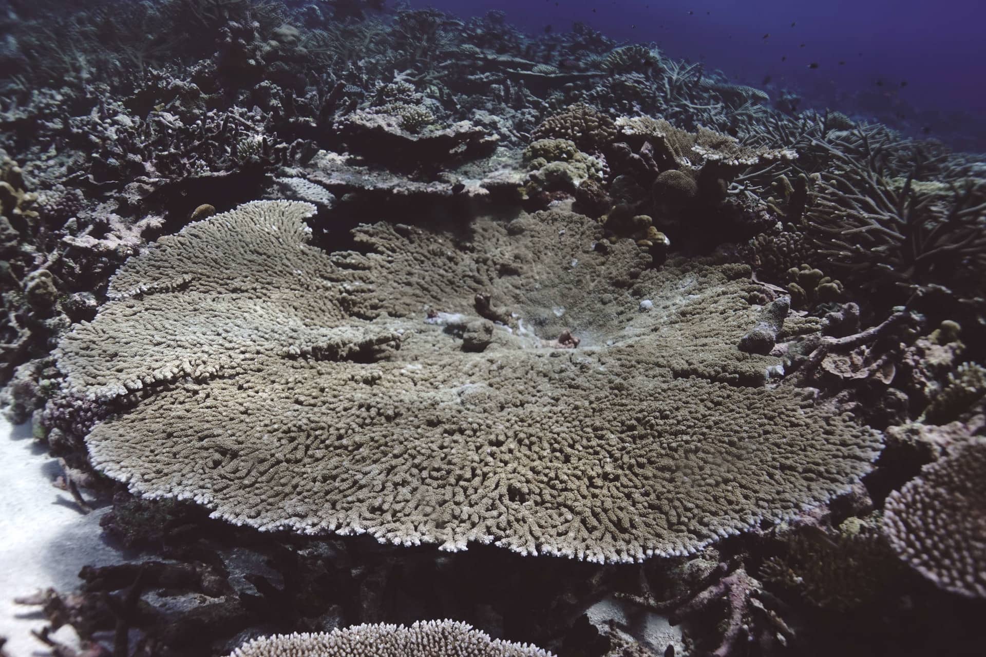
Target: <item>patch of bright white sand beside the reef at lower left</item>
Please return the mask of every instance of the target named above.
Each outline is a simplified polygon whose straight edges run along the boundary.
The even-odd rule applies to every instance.
[[[109,507],[83,514],[71,493],[54,486],[61,468],[32,439],[31,423],[12,427],[0,418],[0,463],[0,636],[7,638],[3,649],[10,657],[47,655],[31,633],[47,620],[40,608],[17,605],[14,598],[48,587],[71,591],[80,583],[82,566],[124,557],[102,537],[100,518]],[[77,640],[68,626],[52,636],[69,645]]]

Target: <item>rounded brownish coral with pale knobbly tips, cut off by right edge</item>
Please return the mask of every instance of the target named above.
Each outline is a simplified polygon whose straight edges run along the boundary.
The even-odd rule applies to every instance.
[[[886,498],[883,531],[899,558],[939,587],[986,598],[986,438],[951,445]]]

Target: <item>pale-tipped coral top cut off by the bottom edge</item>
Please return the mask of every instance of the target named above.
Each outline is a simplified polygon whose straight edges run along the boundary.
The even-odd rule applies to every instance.
[[[319,634],[279,634],[247,641],[230,657],[551,657],[527,643],[490,638],[456,621],[410,627],[361,624]]]

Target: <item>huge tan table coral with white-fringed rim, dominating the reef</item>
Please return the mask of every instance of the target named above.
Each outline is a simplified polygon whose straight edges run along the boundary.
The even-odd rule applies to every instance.
[[[557,212],[363,227],[366,255],[326,254],[313,212],[247,204],[116,274],[58,350],[70,404],[129,408],[87,436],[97,468],[263,530],[616,561],[793,515],[879,451],[733,347],[755,317],[744,267],[645,270]],[[477,295],[516,322],[481,352],[424,320],[474,317]]]

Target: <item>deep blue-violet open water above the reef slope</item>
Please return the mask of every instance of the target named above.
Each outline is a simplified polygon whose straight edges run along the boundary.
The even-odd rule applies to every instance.
[[[935,136],[964,129],[970,139],[981,133],[978,150],[986,150],[986,2],[414,0],[410,5],[461,17],[501,10],[508,23],[529,33],[548,25],[567,31],[583,22],[617,40],[653,41],[670,57],[704,61],[772,98],[795,91],[804,98],[803,107],[831,107],[907,132]],[[810,68],[812,63],[817,68]]]

